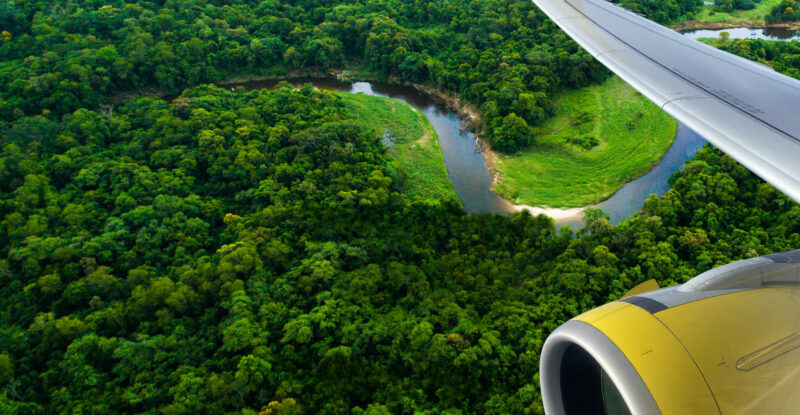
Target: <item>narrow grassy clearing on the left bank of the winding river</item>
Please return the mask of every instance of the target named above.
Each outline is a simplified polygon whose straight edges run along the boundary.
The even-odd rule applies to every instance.
[[[425,200],[460,199],[447,176],[439,138],[428,119],[403,102],[364,94],[338,94],[351,119],[391,137],[389,155],[402,171],[406,192]]]

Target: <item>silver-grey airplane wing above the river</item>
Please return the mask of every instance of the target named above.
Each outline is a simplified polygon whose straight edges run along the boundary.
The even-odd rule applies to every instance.
[[[605,0],[533,0],[664,111],[800,202],[800,81]]]

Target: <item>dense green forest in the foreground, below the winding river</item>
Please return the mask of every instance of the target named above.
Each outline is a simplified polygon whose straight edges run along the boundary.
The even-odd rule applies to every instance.
[[[800,208],[714,150],[573,235],[398,192],[345,114],[200,87],[3,130],[2,412],[540,413],[562,321],[800,244]]]

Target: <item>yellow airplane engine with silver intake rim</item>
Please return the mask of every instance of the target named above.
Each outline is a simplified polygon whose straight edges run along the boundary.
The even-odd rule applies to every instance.
[[[735,262],[556,329],[545,412],[798,414],[799,347],[800,250]]]

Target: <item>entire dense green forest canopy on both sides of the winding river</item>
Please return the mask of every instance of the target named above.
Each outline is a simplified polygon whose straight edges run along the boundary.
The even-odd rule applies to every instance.
[[[0,413],[539,414],[564,320],[800,245],[797,204],[711,148],[557,231],[409,194],[335,94],[195,86],[358,63],[533,124],[606,72],[528,1],[8,1],[0,26]],[[722,47],[796,75],[783,45]]]

